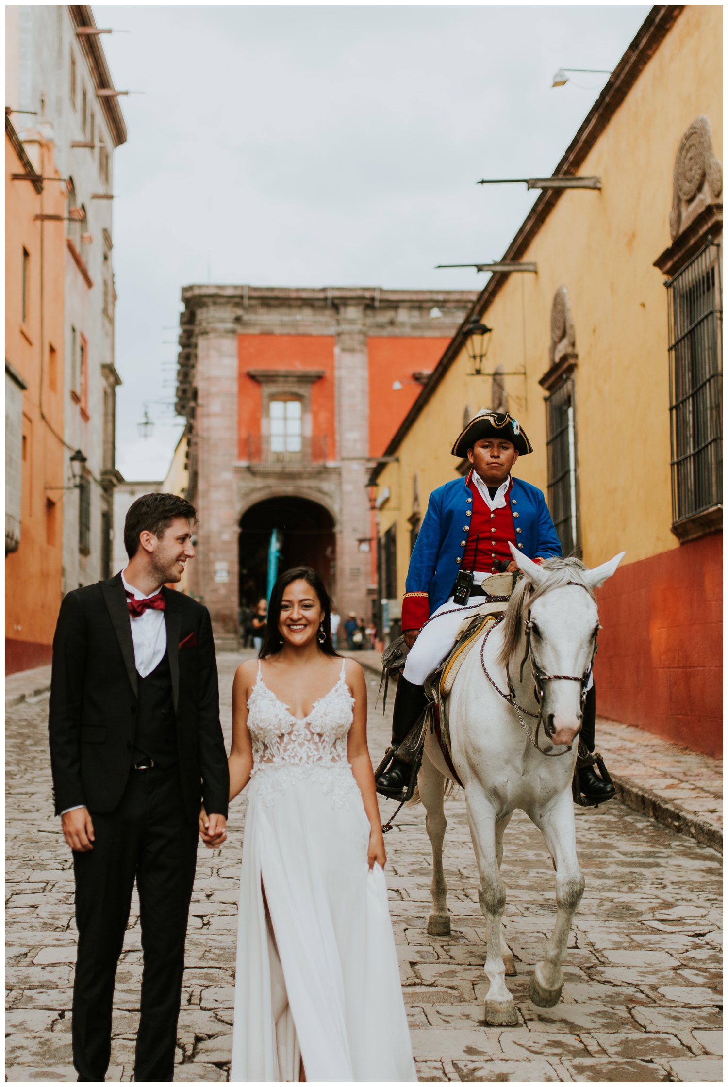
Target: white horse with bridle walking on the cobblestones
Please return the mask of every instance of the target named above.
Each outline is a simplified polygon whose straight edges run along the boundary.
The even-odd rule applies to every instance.
[[[510,550],[523,578],[504,620],[470,650],[449,697],[452,761],[465,787],[480,908],[488,926],[484,970],[491,984],[485,1021],[493,1026],[518,1022],[505,984],[501,922],[506,894],[499,872],[503,834],[516,808],[543,834],[556,870],[556,924],[545,958],[531,977],[529,996],[535,1004],[553,1008],[562,995],[562,963],[584,889],[577,861],[571,778],[596,649],[594,589],[614,574],[625,554],[589,570],[578,559],[550,559],[538,565],[513,546]],[[418,786],[432,845],[428,933],[433,936],[449,934],[443,873],[446,779],[454,777],[430,730]],[[515,973],[513,967],[508,973]]]

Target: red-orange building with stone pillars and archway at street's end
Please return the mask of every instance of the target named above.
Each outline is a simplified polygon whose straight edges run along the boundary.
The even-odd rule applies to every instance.
[[[200,516],[190,591],[218,638],[279,569],[306,562],[340,612],[380,597],[371,466],[476,298],[473,291],[188,287],[177,411],[190,423]]]

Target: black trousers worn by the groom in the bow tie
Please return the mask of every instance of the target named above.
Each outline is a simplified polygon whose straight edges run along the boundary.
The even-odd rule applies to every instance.
[[[136,1039],[137,1083],[174,1072],[197,826],[187,819],[177,767],[133,770],[121,803],[94,814],[95,842],[74,853],[78,955],[73,986],[73,1063],[79,1080],[103,1082],[119,955],[136,878],[144,970]]]

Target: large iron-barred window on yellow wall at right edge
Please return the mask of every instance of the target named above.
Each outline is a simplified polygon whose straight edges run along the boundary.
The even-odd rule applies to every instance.
[[[720,247],[667,283],[673,524],[723,502]]]

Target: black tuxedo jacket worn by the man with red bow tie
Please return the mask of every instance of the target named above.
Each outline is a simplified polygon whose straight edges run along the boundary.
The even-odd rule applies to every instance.
[[[162,589],[166,651],[185,810],[197,822],[227,815],[229,775],[220,727],[218,665],[210,613]],[[76,804],[109,813],[132,767],[137,671],[121,574],[64,597],[53,638],[50,755],[55,814]]]

